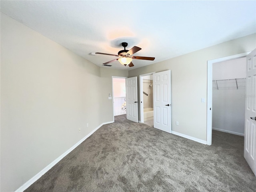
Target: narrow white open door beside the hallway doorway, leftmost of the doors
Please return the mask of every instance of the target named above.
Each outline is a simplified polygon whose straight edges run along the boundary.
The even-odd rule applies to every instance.
[[[137,77],[125,79],[126,85],[126,118],[138,123],[138,90]]]

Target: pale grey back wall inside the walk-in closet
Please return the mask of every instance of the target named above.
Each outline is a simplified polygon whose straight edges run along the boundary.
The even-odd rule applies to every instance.
[[[246,58],[213,64],[212,129],[244,135]]]

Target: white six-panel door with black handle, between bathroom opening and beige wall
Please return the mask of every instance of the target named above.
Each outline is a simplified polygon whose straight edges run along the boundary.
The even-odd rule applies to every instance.
[[[171,132],[171,70],[153,74],[154,128]]]

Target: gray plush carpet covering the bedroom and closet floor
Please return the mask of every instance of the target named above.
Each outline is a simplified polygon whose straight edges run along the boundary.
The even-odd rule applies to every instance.
[[[26,192],[255,192],[242,136],[207,146],[116,116]]]

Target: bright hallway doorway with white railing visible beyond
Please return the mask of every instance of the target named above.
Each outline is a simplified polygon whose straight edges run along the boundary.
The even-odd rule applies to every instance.
[[[126,78],[112,76],[113,120],[114,116],[126,114]]]

